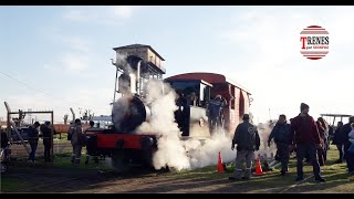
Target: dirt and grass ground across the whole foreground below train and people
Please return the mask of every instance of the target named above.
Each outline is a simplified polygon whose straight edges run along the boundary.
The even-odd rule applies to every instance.
[[[79,168],[70,165],[69,157],[58,157],[56,166],[15,161],[1,176],[1,192],[354,192],[354,176],[348,176],[346,164],[334,164],[337,151],[331,147],[322,174],[326,182],[315,182],[312,166],[304,166],[305,180],[295,184],[295,159],[290,161],[285,177],[279,170],[250,180],[229,181],[233,168],[217,172],[216,166],[188,171],[153,171],[133,168],[125,174],[100,167],[94,163]],[[102,166],[103,164],[101,164]]]

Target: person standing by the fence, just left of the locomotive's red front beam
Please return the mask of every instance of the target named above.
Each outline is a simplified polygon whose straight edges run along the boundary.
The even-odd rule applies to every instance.
[[[70,128],[71,133],[71,145],[73,147],[73,154],[71,156],[71,163],[79,165],[82,147],[86,145],[86,135],[83,132],[81,119],[76,118],[73,127]]]

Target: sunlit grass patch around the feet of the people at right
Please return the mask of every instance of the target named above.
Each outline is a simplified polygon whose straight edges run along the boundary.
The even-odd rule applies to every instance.
[[[227,172],[217,172],[216,166],[198,168],[195,170],[183,170],[165,174],[173,179],[204,179],[204,180],[222,180],[228,184],[227,188],[220,188],[220,192],[354,192],[354,177],[347,175],[346,164],[334,164],[339,157],[335,146],[331,146],[327,154],[326,165],[321,167],[322,176],[327,180],[324,184],[316,182],[313,178],[305,182],[295,185],[296,178],[296,159],[291,158],[289,163],[289,172],[287,176],[280,176],[280,170],[274,169],[267,171],[264,176],[252,176],[251,180],[228,181],[232,175],[235,166],[227,169]],[[235,165],[235,164],[230,164]],[[254,166],[254,165],[253,165]],[[304,178],[313,175],[313,167],[304,164]],[[291,187],[291,188],[290,188]]]

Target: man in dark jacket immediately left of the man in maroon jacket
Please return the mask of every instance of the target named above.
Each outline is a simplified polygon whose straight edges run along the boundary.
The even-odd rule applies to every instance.
[[[291,126],[287,124],[287,116],[280,115],[277,125],[273,127],[272,132],[268,138],[268,146],[270,147],[271,140],[274,138],[277,144],[277,154],[281,163],[281,175],[284,176],[288,171],[289,164],[289,145],[291,142]]]

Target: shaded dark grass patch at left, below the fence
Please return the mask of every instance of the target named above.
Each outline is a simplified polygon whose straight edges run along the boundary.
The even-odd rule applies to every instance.
[[[110,170],[110,165],[104,160],[90,160],[90,164],[85,165],[85,156],[82,156],[81,164],[74,167],[70,156],[71,154],[58,155],[53,164],[44,163],[43,159],[39,159],[34,165],[27,163],[27,159],[10,161],[8,174],[1,175],[1,192],[29,192],[27,189],[34,186],[85,176],[97,170]]]

